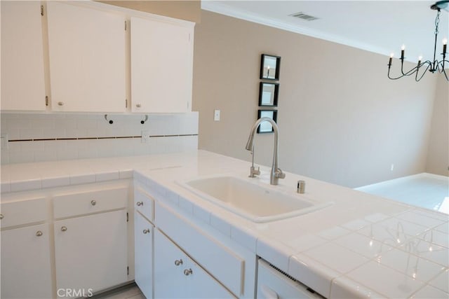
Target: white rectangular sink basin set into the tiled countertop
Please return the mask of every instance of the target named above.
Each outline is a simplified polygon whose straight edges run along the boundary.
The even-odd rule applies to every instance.
[[[328,207],[333,202],[316,202],[278,187],[252,183],[236,176],[210,176],[180,182],[196,195],[256,223],[298,216]]]

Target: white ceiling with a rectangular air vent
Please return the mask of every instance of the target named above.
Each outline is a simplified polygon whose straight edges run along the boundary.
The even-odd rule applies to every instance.
[[[433,60],[435,1],[201,1],[201,8],[243,20],[342,43],[374,53],[395,57],[406,46],[406,60]],[[448,9],[448,8],[446,8]],[[290,15],[306,13],[317,20]],[[448,38],[449,13],[441,10],[437,59],[441,60],[442,40]],[[387,61],[385,62],[387,64]]]

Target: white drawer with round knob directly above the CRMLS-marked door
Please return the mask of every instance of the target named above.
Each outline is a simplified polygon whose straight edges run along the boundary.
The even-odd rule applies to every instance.
[[[126,207],[128,188],[88,191],[53,197],[55,218],[98,213]]]

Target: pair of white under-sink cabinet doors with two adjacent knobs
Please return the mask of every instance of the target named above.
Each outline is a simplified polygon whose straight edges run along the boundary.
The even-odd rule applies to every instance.
[[[207,249],[204,249],[207,250]],[[154,298],[236,298],[159,230],[154,230]]]

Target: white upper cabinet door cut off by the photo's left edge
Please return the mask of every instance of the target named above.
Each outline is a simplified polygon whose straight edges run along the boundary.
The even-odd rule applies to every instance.
[[[1,1],[1,110],[44,111],[40,1]]]

